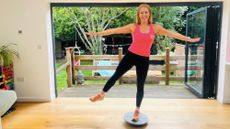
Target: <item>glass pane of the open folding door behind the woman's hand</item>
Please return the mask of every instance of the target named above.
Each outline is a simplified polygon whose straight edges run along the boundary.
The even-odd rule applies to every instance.
[[[187,35],[200,37],[199,44],[188,44],[187,84],[198,93],[203,92],[203,71],[205,54],[206,10],[188,16]]]

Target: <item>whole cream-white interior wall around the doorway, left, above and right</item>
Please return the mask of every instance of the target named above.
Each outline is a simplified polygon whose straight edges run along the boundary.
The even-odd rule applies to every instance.
[[[129,0],[116,0],[130,2]],[[132,0],[132,2],[190,2],[213,0]],[[221,0],[216,0],[221,1]],[[0,0],[0,43],[18,44],[21,59],[16,60],[15,85],[21,101],[50,101],[54,99],[53,49],[51,38],[50,2],[114,2],[114,0]],[[224,0],[218,100],[230,100],[229,74],[226,71],[229,43],[230,2]],[[22,34],[18,34],[22,30]],[[223,55],[223,56],[222,56]],[[230,102],[230,101],[229,101]]]

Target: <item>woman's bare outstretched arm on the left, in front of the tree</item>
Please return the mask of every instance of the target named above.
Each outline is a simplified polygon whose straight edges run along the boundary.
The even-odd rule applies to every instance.
[[[87,35],[93,36],[93,35],[101,35],[101,36],[105,36],[105,35],[111,35],[111,34],[128,34],[131,33],[133,31],[133,28],[135,27],[134,24],[129,24],[123,27],[118,27],[118,28],[111,28],[111,29],[107,29],[104,31],[100,31],[100,32],[87,32]]]

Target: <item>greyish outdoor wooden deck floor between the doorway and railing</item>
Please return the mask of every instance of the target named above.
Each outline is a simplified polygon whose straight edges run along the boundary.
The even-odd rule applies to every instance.
[[[58,94],[59,97],[89,97],[100,90],[103,85],[73,86]],[[109,98],[135,98],[136,84],[115,85],[107,94]],[[145,84],[145,98],[167,98],[167,99],[196,99],[184,85],[153,85]]]

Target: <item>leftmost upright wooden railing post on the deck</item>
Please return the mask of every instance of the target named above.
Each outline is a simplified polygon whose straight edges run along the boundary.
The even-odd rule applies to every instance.
[[[66,72],[67,72],[67,84],[71,87],[75,84],[74,79],[74,50],[73,47],[66,48],[66,60],[68,62]]]

